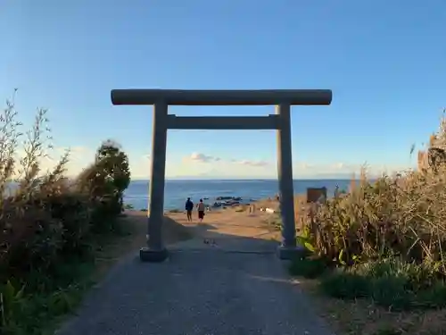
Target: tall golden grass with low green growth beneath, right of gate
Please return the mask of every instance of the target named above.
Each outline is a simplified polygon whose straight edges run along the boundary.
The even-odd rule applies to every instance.
[[[445,124],[443,119],[431,146],[446,145]],[[299,239],[310,246],[317,263],[300,260],[293,271],[309,268],[314,277],[315,271],[335,266],[323,281],[331,295],[367,296],[401,308],[445,305],[438,298],[446,298],[444,163],[373,182],[364,170],[347,194],[318,205],[313,217],[302,222]]]

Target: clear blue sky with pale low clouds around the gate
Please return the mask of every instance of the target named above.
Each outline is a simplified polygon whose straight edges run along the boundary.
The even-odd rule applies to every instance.
[[[294,178],[412,166],[446,106],[446,2],[0,0],[0,97],[21,121],[47,107],[70,174],[103,139],[150,173],[152,107],[112,106],[112,88],[331,88],[293,107]],[[171,107],[264,115],[273,107]],[[212,159],[217,157],[219,160]],[[169,130],[168,177],[276,177],[274,131]]]

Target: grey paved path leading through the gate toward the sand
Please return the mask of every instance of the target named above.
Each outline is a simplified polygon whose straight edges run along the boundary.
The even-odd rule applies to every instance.
[[[58,333],[332,334],[274,255],[261,215],[209,214],[188,225],[194,239],[170,246],[162,264],[128,256]],[[166,220],[187,225],[183,216]]]

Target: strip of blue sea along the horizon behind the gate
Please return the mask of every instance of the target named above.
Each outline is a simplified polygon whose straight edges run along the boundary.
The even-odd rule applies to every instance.
[[[326,187],[327,197],[332,197],[336,186],[348,189],[351,180],[294,180],[294,193],[305,194],[307,188]],[[277,180],[166,180],[164,188],[164,208],[183,209],[186,198],[195,203],[204,199],[213,204],[217,197],[242,197],[243,202],[251,202],[266,197],[274,197],[278,192]],[[149,202],[149,180],[133,180],[125,195],[125,205],[136,210],[146,209]]]

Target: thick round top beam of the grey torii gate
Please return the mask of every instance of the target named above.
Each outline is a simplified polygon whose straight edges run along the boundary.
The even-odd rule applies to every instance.
[[[330,89],[112,89],[113,105],[330,105]]]

